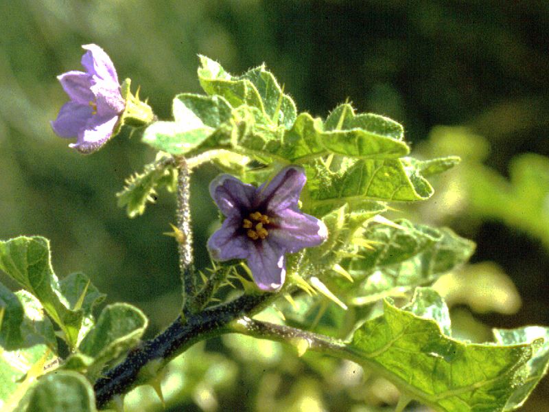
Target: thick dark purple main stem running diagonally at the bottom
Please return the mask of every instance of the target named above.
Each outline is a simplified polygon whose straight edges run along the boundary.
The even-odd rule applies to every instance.
[[[127,393],[139,383],[140,371],[151,361],[166,365],[198,341],[227,332],[226,325],[245,314],[253,315],[276,295],[244,295],[229,302],[190,314],[185,321],[178,317],[170,327],[150,341],[132,350],[119,365],[106,371],[95,382],[97,407],[103,407],[113,396]]]

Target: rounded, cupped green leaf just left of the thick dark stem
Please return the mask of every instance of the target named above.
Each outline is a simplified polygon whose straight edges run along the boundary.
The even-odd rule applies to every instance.
[[[135,347],[148,320],[141,310],[129,304],[106,306],[96,325],[84,337],[78,349],[82,354],[94,358],[89,366],[88,376],[96,377],[110,361],[115,361]]]

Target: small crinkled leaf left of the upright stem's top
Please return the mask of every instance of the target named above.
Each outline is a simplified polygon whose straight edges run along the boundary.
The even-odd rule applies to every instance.
[[[171,156],[161,155],[153,163],[145,165],[143,173],[134,174],[126,179],[124,190],[116,194],[118,206],[126,206],[130,218],[142,215],[147,202],[154,203],[156,190],[166,187],[173,192],[177,174]]]

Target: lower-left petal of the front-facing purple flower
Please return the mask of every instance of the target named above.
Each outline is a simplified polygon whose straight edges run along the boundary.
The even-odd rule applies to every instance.
[[[218,231],[208,239],[208,250],[215,260],[246,259],[250,250],[250,239],[239,236],[242,220],[240,216],[226,218]]]

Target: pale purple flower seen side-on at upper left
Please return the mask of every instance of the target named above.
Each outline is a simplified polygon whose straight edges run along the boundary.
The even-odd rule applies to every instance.
[[[61,86],[71,98],[65,103],[57,119],[51,122],[60,137],[76,137],[70,144],[81,153],[100,149],[113,135],[120,113],[126,102],[120,94],[120,85],[113,62],[97,45],[84,45],[83,71],[68,71],[58,76]]]

